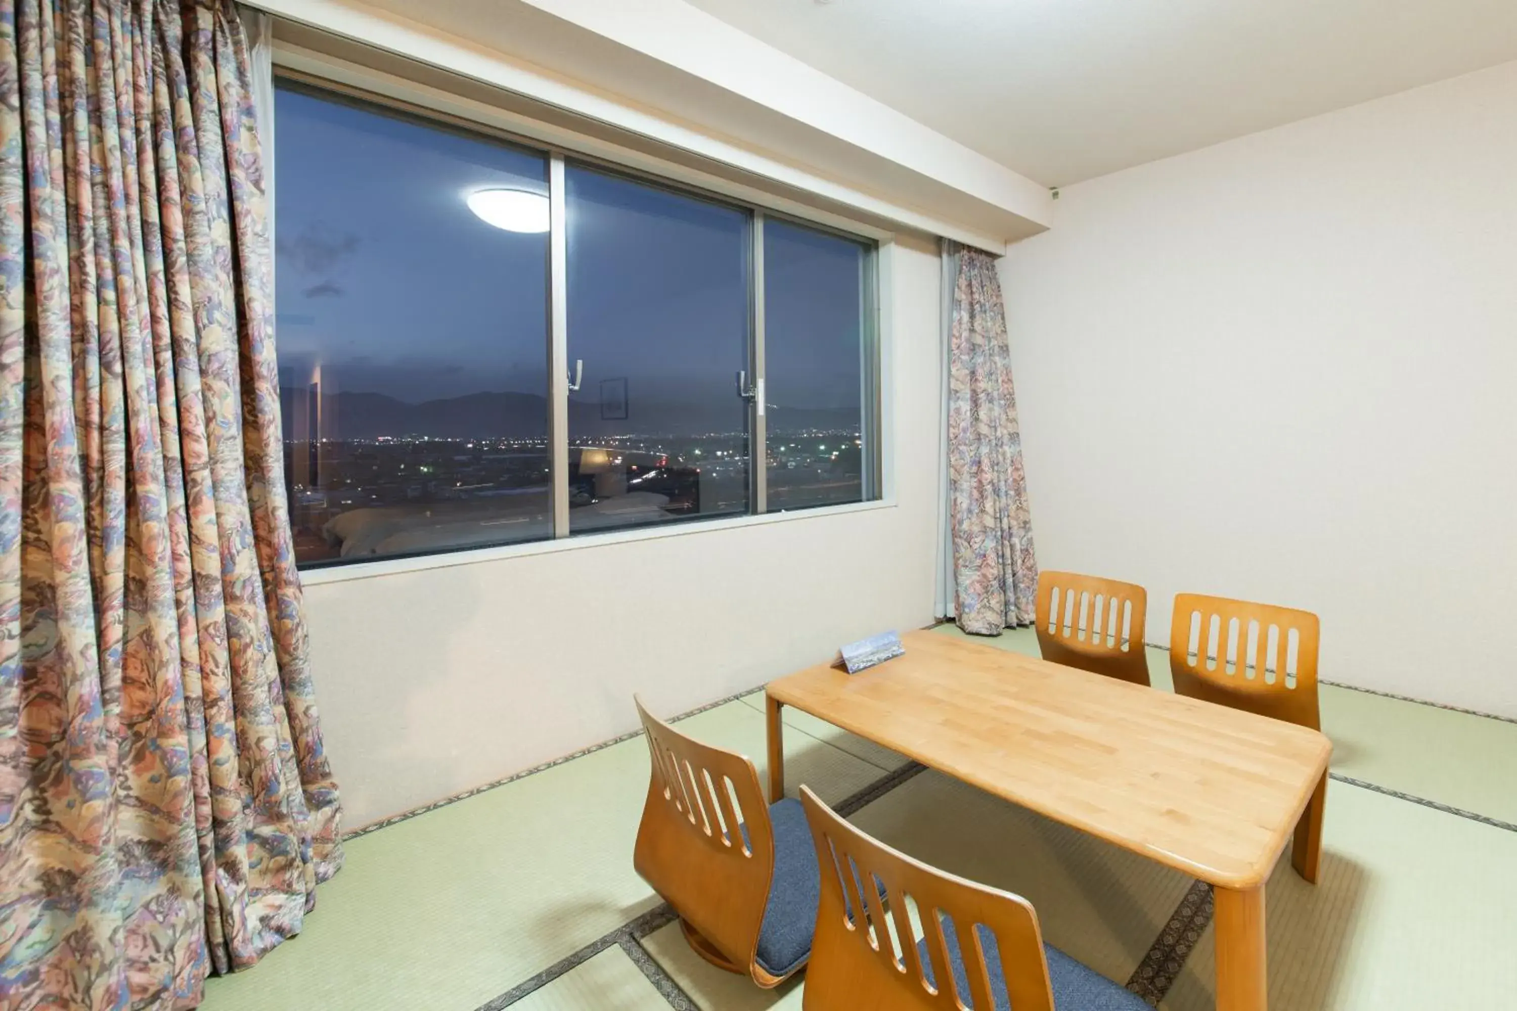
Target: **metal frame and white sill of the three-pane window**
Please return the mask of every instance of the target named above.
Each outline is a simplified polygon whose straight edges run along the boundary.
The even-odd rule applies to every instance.
[[[831,214],[809,205],[771,194],[754,186],[734,183],[725,177],[690,168],[681,162],[649,156],[645,152],[622,149],[587,133],[575,133],[546,120],[537,121],[520,114],[496,109],[472,99],[463,99],[426,85],[417,85],[393,74],[349,64],[305,49],[273,47],[275,85],[287,83],[334,102],[364,105],[390,111],[399,117],[435,126],[441,130],[461,132],[485,139],[495,139],[525,152],[542,155],[548,161],[549,194],[549,258],[548,258],[548,458],[551,473],[549,502],[552,512],[552,535],[531,541],[505,543],[482,547],[441,549],[414,555],[378,556],[364,561],[326,562],[300,565],[302,581],[308,585],[340,582],[346,579],[416,571],[537,555],[552,550],[593,547],[610,543],[655,540],[687,534],[713,532],[783,520],[827,517],[894,508],[894,482],[890,480],[890,432],[889,432],[889,320],[886,293],[892,268],[895,236],[892,232]],[[466,112],[466,114],[461,114]],[[502,126],[498,120],[508,120]],[[275,123],[278,144],[278,123]],[[765,264],[763,238],[768,220],[786,221],[799,227],[857,243],[865,250],[863,283],[860,286],[860,438],[863,441],[862,493],[859,502],[819,505],[771,512],[768,509],[768,424],[760,409],[760,397],[749,397],[749,505],[743,515],[698,518],[646,527],[628,527],[610,532],[570,534],[569,529],[569,333],[567,333],[567,208],[564,176],[569,165],[625,177],[652,185],[678,196],[715,203],[742,211],[749,218],[752,247],[749,256],[748,283],[748,374],[755,394],[765,379]],[[275,180],[278,185],[278,180]],[[270,186],[275,192],[275,186]],[[276,196],[275,196],[276,199]],[[273,217],[273,215],[270,215]],[[734,376],[736,380],[736,376]]]

